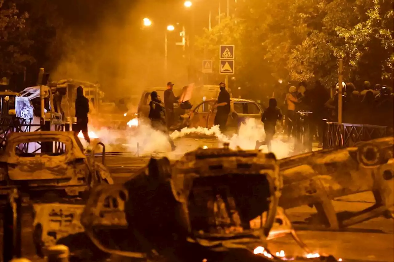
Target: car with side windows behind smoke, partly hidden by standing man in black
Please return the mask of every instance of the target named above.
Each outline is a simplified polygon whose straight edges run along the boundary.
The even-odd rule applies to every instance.
[[[217,100],[207,100],[195,106],[189,117],[185,118],[185,125],[188,127],[207,128],[214,126],[217,108],[212,108],[216,103]],[[253,100],[230,98],[230,113],[227,127],[237,129],[247,118],[256,118],[258,121],[261,121],[262,113],[261,106]]]

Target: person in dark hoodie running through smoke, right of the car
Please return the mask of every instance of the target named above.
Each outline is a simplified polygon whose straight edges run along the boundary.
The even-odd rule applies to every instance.
[[[282,111],[279,109],[279,107],[277,107],[276,99],[270,98],[269,106],[261,117],[261,121],[264,124],[264,131],[266,132],[266,140],[263,142],[256,141],[256,149],[260,148],[262,145],[267,145],[268,151],[271,151],[271,140],[275,135],[276,122],[282,119]]]

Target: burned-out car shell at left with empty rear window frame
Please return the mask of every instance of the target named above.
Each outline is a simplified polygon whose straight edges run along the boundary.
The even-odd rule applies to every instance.
[[[3,186],[64,190],[78,196],[97,183],[112,184],[103,164],[87,159],[74,132],[11,133],[0,153]]]

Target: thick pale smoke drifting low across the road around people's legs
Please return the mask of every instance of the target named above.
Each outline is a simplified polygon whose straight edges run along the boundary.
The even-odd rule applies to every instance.
[[[140,121],[138,127],[126,130],[102,128],[94,132],[106,144],[107,151],[132,151],[136,154],[138,152],[140,156],[166,155],[172,159],[199,147],[221,147],[223,143],[229,143],[231,149],[251,150],[255,149],[256,140],[265,139],[263,125],[253,118],[247,119],[245,124],[241,125],[238,134],[230,137],[221,133],[218,126],[210,129],[185,127],[180,131],[174,131],[170,135],[177,145],[174,152],[171,152],[168,137],[161,131],[152,129],[147,122]],[[268,152],[267,146],[261,146],[260,150]],[[272,141],[272,151],[278,158],[288,157],[292,153],[290,145],[279,138]]]

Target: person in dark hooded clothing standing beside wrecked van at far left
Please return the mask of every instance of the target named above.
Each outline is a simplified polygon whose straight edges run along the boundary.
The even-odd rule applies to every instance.
[[[87,133],[87,114],[89,113],[89,99],[84,96],[84,89],[78,87],[76,89],[76,100],[75,100],[75,117],[76,124],[73,125],[73,131],[78,135],[80,131],[84,135],[86,142],[90,144],[89,134]]]

